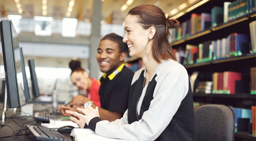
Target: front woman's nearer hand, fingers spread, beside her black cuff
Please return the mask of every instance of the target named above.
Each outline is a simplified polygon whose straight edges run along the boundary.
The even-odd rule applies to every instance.
[[[77,108],[77,110],[82,112],[84,115],[82,115],[78,112],[74,112],[74,114],[79,118],[83,118],[85,120],[85,122],[87,123],[87,125],[89,125],[89,122],[92,118],[100,117],[98,107],[93,109],[92,107],[88,106],[87,108],[84,108],[84,109]]]

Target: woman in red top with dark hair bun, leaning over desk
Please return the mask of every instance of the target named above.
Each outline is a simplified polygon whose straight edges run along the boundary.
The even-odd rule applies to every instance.
[[[81,105],[82,103],[92,101],[98,107],[100,107],[100,95],[99,88],[100,84],[95,78],[90,78],[87,71],[81,67],[81,62],[79,60],[71,60],[69,62],[69,67],[71,69],[70,79],[72,83],[80,90],[86,90],[86,96],[76,95],[72,98],[68,105],[61,105],[58,109],[62,109],[61,113],[64,116],[68,116],[64,110],[78,111],[76,108],[70,105]]]

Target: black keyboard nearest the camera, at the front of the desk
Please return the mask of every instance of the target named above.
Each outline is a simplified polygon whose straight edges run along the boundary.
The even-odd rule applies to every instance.
[[[32,125],[27,125],[27,127],[34,137],[34,141],[70,141],[55,129]]]

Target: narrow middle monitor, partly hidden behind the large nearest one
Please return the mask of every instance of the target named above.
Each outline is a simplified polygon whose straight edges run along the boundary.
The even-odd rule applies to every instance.
[[[27,80],[27,75],[26,75],[26,70],[25,70],[25,63],[24,63],[22,47],[19,47],[19,49],[20,49],[21,69],[22,69],[23,83],[24,83],[23,91],[25,94],[25,100],[28,101],[31,98],[30,98],[30,94],[29,94],[28,80]]]

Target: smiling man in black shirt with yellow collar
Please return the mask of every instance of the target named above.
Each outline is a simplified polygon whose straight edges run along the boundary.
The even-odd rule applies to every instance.
[[[101,39],[97,48],[97,62],[100,71],[104,72],[99,79],[101,84],[99,88],[101,107],[98,108],[103,120],[114,121],[119,119],[128,108],[129,90],[134,72],[124,64],[128,47],[122,39],[121,36],[115,33],[107,34]],[[80,106],[83,105],[84,107],[97,107],[92,101],[80,104]]]

